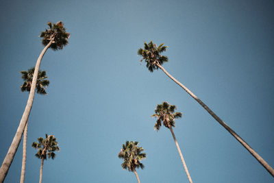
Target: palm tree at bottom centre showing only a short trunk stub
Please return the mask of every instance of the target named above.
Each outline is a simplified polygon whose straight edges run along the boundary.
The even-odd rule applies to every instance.
[[[123,169],[133,171],[136,175],[138,183],[140,183],[136,168],[138,169],[140,167],[141,169],[144,169],[145,166],[140,162],[140,160],[145,159],[147,155],[142,152],[144,149],[142,149],[142,147],[138,147],[137,145],[138,142],[125,142],[125,144],[123,144],[123,148],[118,154],[118,157],[123,158],[124,160],[121,164]]]

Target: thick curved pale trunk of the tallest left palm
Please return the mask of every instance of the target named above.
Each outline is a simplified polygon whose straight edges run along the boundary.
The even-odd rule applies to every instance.
[[[51,46],[52,42],[53,40],[51,40],[49,44],[42,50],[36,62],[34,77],[32,79],[32,88],[30,89],[30,92],[29,92],[29,99],[27,99],[27,106],[25,107],[25,111],[23,113],[23,116],[17,128],[16,134],[13,138],[12,144],[10,145],[10,149],[8,149],[8,154],[5,156],[5,159],[3,160],[3,164],[1,165],[1,168],[0,168],[0,183],[2,183],[5,180],[5,176],[8,173],[8,169],[10,169],[10,164],[12,164],[12,160],[16,154],[18,145],[21,142],[21,138],[25,130],[25,125],[27,123],[27,119],[29,118],[29,113],[32,110],[32,103],[34,101],[34,93],[36,90],[36,82],[37,82],[40,63],[41,63],[42,57],[45,55],[47,49]]]

